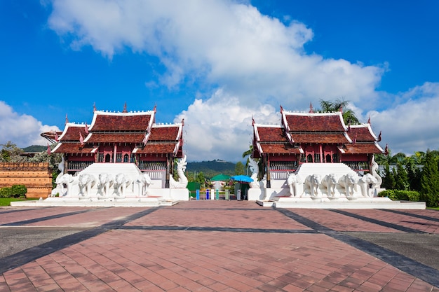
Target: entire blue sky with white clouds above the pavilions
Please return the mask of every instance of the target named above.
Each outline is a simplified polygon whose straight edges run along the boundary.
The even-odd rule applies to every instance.
[[[0,144],[99,110],[185,121],[188,160],[241,160],[279,106],[345,99],[393,153],[439,149],[437,1],[0,1]]]

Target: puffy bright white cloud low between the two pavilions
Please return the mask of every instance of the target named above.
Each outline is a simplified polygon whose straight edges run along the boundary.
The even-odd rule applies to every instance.
[[[196,101],[180,113],[184,118],[184,151],[190,160],[231,159],[237,162],[252,144],[252,118],[257,123],[280,123],[272,106],[252,109],[238,98],[217,90],[208,100]]]

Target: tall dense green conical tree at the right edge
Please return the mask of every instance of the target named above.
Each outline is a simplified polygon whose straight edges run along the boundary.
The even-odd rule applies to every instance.
[[[439,155],[437,151],[427,151],[421,175],[421,198],[427,207],[439,204]]]

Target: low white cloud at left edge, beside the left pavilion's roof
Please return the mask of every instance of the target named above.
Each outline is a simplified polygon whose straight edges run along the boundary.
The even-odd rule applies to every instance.
[[[20,148],[32,145],[46,145],[42,132],[59,131],[56,126],[43,125],[33,116],[20,115],[11,106],[0,100],[0,144],[11,141]]]

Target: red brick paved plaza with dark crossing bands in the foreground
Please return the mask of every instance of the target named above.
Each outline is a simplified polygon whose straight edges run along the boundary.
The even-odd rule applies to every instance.
[[[439,212],[0,208],[0,291],[439,291]]]

